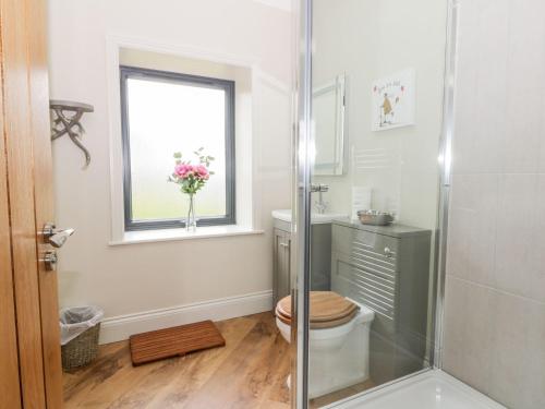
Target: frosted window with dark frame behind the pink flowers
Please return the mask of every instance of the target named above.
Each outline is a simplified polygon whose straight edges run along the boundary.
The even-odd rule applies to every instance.
[[[233,225],[234,82],[121,67],[125,230],[180,228],[187,197],[168,176],[173,154],[215,172],[195,196],[199,226]]]

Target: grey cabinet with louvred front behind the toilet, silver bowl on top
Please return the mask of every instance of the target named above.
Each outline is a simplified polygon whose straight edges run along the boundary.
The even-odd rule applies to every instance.
[[[375,311],[371,374],[383,383],[425,365],[432,231],[335,222],[332,290]]]

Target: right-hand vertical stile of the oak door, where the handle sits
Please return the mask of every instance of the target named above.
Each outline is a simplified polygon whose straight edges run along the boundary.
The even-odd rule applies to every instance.
[[[49,84],[47,58],[47,1],[26,0],[29,26],[28,63],[31,127],[34,143],[34,196],[35,237],[38,258],[52,250],[40,237],[44,226],[55,221],[53,171],[51,157],[51,127],[49,119]],[[36,260],[36,258],[35,258]],[[48,408],[62,407],[62,370],[59,330],[59,303],[57,273],[47,272],[44,263],[38,265],[40,292],[41,348],[46,404]]]

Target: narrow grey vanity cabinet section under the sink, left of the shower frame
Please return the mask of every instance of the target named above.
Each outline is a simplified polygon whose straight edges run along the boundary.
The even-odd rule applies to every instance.
[[[275,228],[274,237],[274,274],[272,301],[274,308],[278,301],[291,293],[291,233]]]

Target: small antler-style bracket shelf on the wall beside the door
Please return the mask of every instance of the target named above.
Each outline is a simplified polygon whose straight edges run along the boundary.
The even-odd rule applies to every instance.
[[[50,100],[49,109],[53,112],[51,121],[51,141],[68,134],[72,142],[85,154],[84,168],[89,166],[90,154],[82,144],[82,137],[85,134],[85,130],[80,121],[84,113],[95,110],[93,106],[68,100]]]

